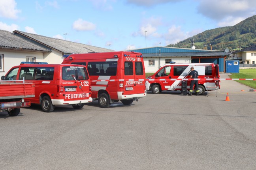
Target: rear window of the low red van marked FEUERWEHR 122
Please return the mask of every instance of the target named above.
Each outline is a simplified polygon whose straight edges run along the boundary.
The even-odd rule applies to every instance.
[[[83,66],[62,67],[62,80],[88,80],[88,73]]]

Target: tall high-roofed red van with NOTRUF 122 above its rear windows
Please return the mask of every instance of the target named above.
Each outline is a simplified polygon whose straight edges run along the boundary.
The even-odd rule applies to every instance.
[[[131,105],[134,100],[146,96],[145,67],[141,53],[121,51],[72,54],[62,64],[87,66],[92,98],[98,99],[98,104],[103,108],[118,101]]]

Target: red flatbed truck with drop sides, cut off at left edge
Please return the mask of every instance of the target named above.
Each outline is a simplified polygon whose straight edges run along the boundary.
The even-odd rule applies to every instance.
[[[1,79],[5,79],[4,76]],[[10,116],[17,116],[21,107],[30,106],[30,101],[25,101],[26,97],[35,96],[35,85],[25,83],[24,80],[0,81],[0,112],[7,111]]]

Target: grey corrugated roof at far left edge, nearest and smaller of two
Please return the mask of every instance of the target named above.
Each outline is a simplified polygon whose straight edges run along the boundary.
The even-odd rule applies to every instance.
[[[0,47],[22,50],[36,50],[42,52],[51,52],[39,45],[31,43],[5,30],[0,30]]]

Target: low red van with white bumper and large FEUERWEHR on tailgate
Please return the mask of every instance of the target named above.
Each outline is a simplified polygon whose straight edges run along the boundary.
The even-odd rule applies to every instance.
[[[72,105],[83,108],[92,102],[90,79],[87,68],[74,64],[47,64],[22,62],[12,67],[6,80],[22,80],[35,84],[35,97],[31,103],[41,104],[44,112],[52,112],[55,105]]]

